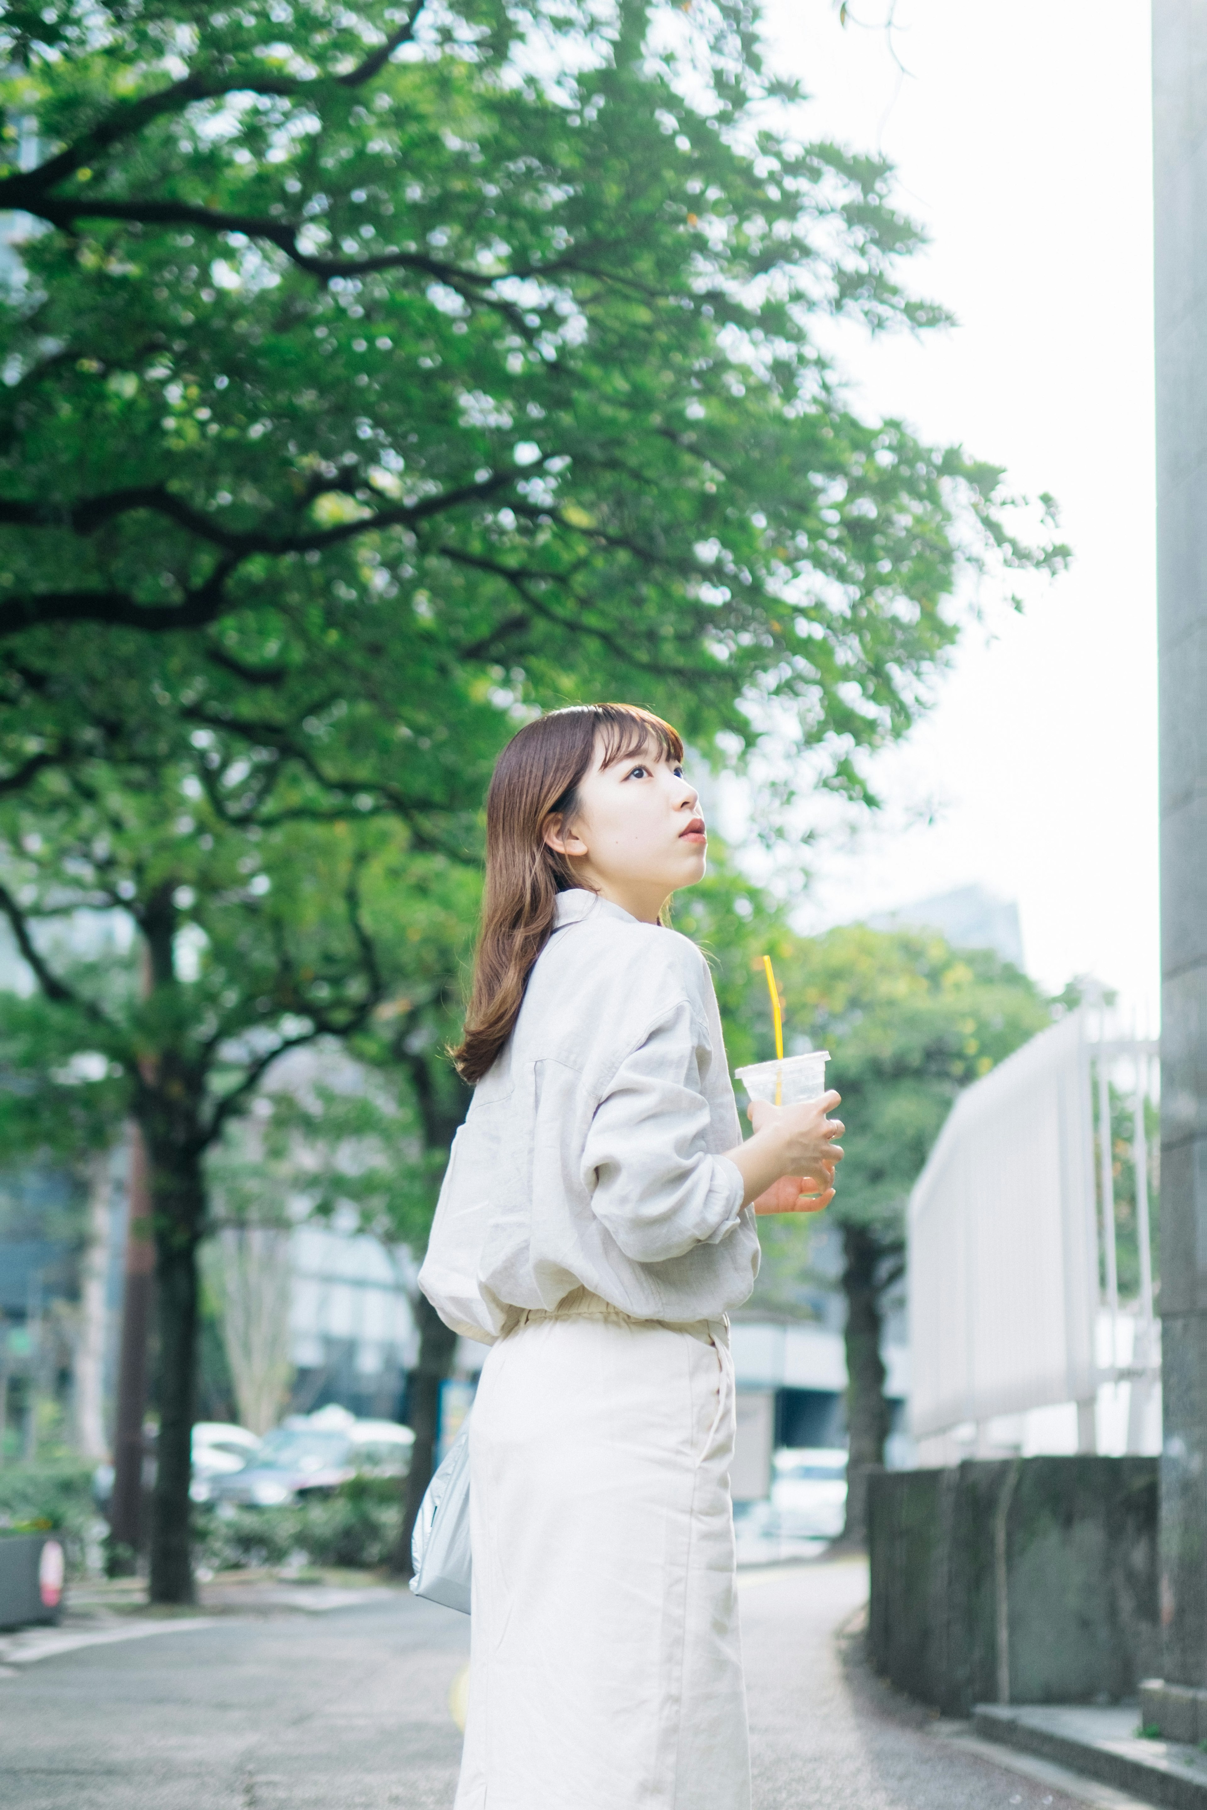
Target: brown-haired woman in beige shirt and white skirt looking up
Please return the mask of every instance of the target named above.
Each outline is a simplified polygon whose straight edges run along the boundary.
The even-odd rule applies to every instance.
[[[490,1343],[470,1428],[456,1810],[747,1810],[729,1309],[755,1213],[816,1211],[836,1093],[742,1142],[708,965],[662,923],[706,831],[670,724],[552,711],[505,748],[420,1287]]]

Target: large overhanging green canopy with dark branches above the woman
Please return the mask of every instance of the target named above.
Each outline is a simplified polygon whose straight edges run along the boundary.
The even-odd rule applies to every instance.
[[[756,688],[858,786],[961,545],[1062,557],[814,344],[943,319],[894,279],[889,167],[758,127],[737,0],[537,13],[527,54],[490,0],[277,14],[5,13],[0,208],[43,228],[5,310],[9,700],[63,646],[208,628],[177,684],[413,814],[476,804],[501,690],[655,686],[709,744]],[[33,632],[63,623],[110,634]]]

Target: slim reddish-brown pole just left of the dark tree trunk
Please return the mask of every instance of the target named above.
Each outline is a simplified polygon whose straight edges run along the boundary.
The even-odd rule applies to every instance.
[[[150,1176],[143,1133],[130,1122],[128,1218],[125,1240],[125,1298],[121,1305],[121,1361],[118,1367],[118,1424],[114,1432],[114,1493],[109,1506],[110,1569],[134,1571],[143,1535],[143,1419],[147,1415],[147,1329],[156,1245],[150,1224]]]

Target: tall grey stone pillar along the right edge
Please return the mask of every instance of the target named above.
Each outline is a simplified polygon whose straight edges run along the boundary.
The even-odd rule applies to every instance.
[[[1153,0],[1153,150],[1165,1439],[1160,1587],[1164,1681],[1203,1691],[1200,1703],[1207,1703],[1207,0]],[[1160,1716],[1158,1700],[1145,1694],[1145,1709],[1149,1701]]]

